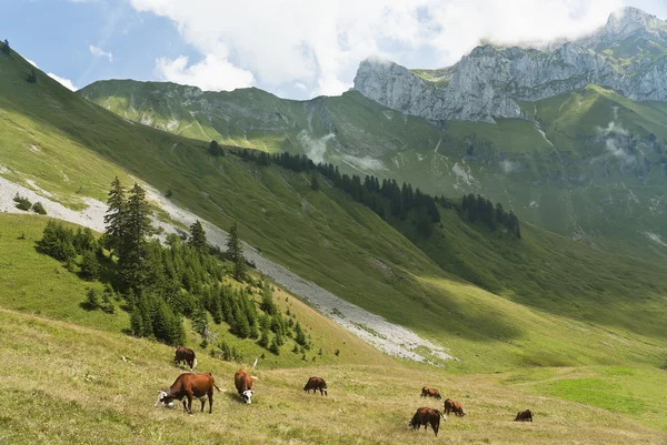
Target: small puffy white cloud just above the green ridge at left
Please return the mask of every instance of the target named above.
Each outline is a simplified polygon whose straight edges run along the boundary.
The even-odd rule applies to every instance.
[[[236,68],[227,59],[208,54],[201,62],[188,67],[188,58],[158,59],[156,68],[162,79],[170,82],[199,87],[202,90],[233,90],[251,87],[255,78],[249,71]]]

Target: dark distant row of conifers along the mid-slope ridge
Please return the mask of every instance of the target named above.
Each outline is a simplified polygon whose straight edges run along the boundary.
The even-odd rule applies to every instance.
[[[412,189],[412,185],[405,182],[401,185],[396,180],[384,179],[380,182],[378,178],[372,175],[366,175],[361,180],[356,174],[351,176],[346,173],[341,174],[338,166],[331,163],[316,164],[305,154],[298,155],[287,152],[269,154],[247,149],[237,150],[232,153],[259,165],[277,164],[298,173],[310,173],[310,186],[315,191],[320,189],[318,175],[321,174],[334,186],[371,209],[390,224],[398,225],[400,222],[408,221],[425,237],[431,235],[432,224],[440,222],[440,212],[437,204],[445,209],[454,206],[447,198],[432,198],[419,189]],[[470,223],[482,221],[491,231],[496,230],[498,225],[504,225],[516,237],[521,237],[518,218],[512,212],[506,213],[500,203],[494,206],[489,200],[469,194],[464,196],[462,205],[457,206],[457,210],[465,221]]]

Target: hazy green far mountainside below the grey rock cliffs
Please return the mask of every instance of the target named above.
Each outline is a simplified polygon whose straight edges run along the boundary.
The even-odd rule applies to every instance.
[[[436,194],[481,193],[511,206],[524,221],[588,245],[667,256],[667,247],[655,241],[667,240],[661,150],[667,109],[661,103],[633,102],[590,85],[522,103],[535,122],[436,124],[357,92],[298,102],[257,89],[213,93],[171,83],[102,81],[80,94],[177,134],[307,153],[344,171],[395,178]]]

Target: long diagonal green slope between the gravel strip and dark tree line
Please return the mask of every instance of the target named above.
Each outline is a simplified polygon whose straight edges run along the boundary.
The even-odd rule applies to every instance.
[[[455,215],[422,251],[326,182],[315,192],[309,178],[277,166],[213,159],[202,142],[129,123],[41,73],[29,84],[28,67],[16,53],[0,57],[8,79],[0,84],[0,124],[8,130],[0,138],[14,148],[0,152],[0,162],[12,180],[32,180],[63,202],[103,198],[116,173],[171,190],[176,203],[219,226],[238,221],[242,237],[267,257],[449,347],[460,358],[447,364],[452,370],[664,362],[665,333],[651,327],[665,322],[659,266],[633,269],[635,287],[619,285],[598,276],[618,275],[607,271],[625,270],[627,260],[594,260],[596,253],[528,225],[525,241],[496,244]],[[34,141],[42,141],[40,151],[30,150]],[[63,164],[68,158],[93,170],[66,178],[59,165],[79,169]],[[438,234],[450,244],[439,244]],[[588,267],[559,266],[564,261]],[[540,279],[551,270],[556,277]],[[564,280],[570,284],[563,287]],[[609,337],[614,347],[600,347]]]

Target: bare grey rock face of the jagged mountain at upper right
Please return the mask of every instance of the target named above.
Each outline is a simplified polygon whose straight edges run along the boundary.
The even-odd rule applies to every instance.
[[[545,49],[478,47],[456,65],[432,71],[428,80],[370,58],[359,65],[355,89],[386,107],[434,121],[527,118],[517,101],[537,101],[589,83],[633,100],[667,101],[667,57],[645,51],[651,42],[667,45],[667,22],[626,8],[576,42]],[[621,43],[624,51],[618,50]]]

